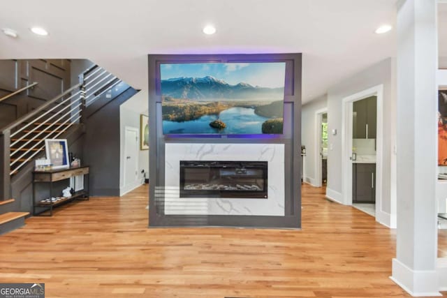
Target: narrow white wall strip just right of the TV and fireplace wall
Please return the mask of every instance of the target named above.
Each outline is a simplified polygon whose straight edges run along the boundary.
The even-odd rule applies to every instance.
[[[316,163],[316,122],[315,112],[328,107],[328,96],[325,94],[302,106],[301,114],[301,144],[306,147],[306,156],[304,157],[304,181],[317,185],[315,163]],[[328,115],[329,117],[329,115]]]

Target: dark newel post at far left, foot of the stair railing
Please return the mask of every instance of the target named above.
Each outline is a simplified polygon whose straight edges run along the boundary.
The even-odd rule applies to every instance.
[[[10,196],[10,131],[0,134],[0,201]]]

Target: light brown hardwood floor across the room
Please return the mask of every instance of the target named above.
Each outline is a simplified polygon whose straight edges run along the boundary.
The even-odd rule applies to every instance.
[[[148,229],[147,186],[68,204],[0,237],[0,282],[46,297],[409,297],[388,278],[393,230],[302,193],[302,230]]]

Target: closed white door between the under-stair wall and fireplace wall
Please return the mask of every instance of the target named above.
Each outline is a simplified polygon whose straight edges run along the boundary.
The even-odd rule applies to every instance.
[[[138,184],[138,129],[124,129],[124,189],[131,190]]]

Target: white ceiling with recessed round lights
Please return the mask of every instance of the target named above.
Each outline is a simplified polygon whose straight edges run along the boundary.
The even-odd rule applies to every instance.
[[[147,54],[302,52],[302,101],[394,56],[396,0],[61,0],[2,1],[0,59],[90,59],[147,89]],[[447,36],[447,9],[440,9]],[[217,27],[205,36],[208,22]],[[35,36],[41,26],[50,36]],[[447,39],[447,38],[445,38]],[[446,40],[440,54],[447,57]]]

